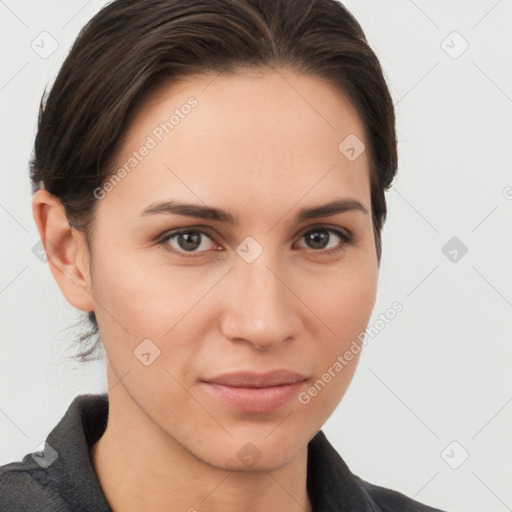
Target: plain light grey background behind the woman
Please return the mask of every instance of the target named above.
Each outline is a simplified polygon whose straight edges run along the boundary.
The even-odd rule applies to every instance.
[[[104,4],[0,1],[0,464],[35,450],[77,394],[107,389],[103,361],[66,359],[80,314],[32,253],[27,165],[43,88]],[[449,511],[511,510],[512,1],[345,5],[384,67],[399,137],[370,325],[404,309],[323,430],[372,483]],[[59,45],[45,59],[31,47],[43,31]],[[442,251],[452,237],[468,248],[457,261]]]

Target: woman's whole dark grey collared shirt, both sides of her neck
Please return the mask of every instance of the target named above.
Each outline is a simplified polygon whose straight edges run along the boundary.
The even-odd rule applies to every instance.
[[[0,511],[112,512],[90,455],[107,418],[106,393],[75,397],[44,452],[0,466]],[[442,512],[352,474],[321,430],[308,444],[307,490],[314,512]]]

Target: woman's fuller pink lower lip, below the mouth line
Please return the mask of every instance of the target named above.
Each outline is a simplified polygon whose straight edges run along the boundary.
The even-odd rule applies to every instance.
[[[268,388],[238,388],[205,382],[206,388],[242,412],[272,412],[296,396],[305,381]]]

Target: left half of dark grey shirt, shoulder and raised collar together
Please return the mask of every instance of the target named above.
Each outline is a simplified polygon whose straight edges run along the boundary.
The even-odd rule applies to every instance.
[[[107,415],[107,394],[75,397],[41,451],[0,466],[0,511],[110,511],[90,457]]]

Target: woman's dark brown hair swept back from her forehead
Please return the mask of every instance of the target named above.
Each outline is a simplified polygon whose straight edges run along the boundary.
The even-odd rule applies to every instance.
[[[41,98],[30,161],[32,190],[65,208],[90,248],[98,199],[138,106],[157,87],[204,72],[288,68],[328,81],[363,121],[380,264],[384,192],[397,170],[393,101],[357,20],[336,0],[116,0],[80,31]],[[88,313],[98,334],[94,312]],[[101,341],[76,357],[91,359]]]

